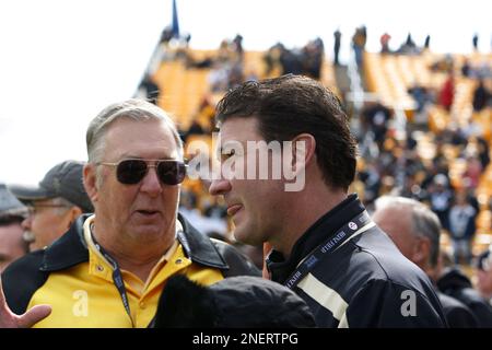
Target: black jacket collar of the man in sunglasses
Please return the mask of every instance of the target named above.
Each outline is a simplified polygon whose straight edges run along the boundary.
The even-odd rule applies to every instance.
[[[83,225],[90,215],[92,214],[81,215],[67,233],[45,249],[39,270],[59,271],[89,261],[89,250],[83,238]],[[180,214],[178,214],[178,220],[183,225],[183,231],[178,232],[177,238],[191,261],[211,268],[229,269],[227,264],[208,236],[198,232]]]

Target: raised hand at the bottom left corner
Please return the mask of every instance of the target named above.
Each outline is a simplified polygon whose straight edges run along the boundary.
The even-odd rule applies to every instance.
[[[0,277],[0,328],[30,328],[51,313],[49,305],[36,305],[23,315],[15,315],[7,305]]]

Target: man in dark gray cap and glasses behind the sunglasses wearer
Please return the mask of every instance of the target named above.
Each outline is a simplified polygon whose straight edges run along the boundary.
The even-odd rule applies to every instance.
[[[31,250],[50,245],[82,213],[94,211],[82,182],[84,165],[84,162],[65,161],[51,167],[37,186],[9,186],[30,209],[22,226]]]

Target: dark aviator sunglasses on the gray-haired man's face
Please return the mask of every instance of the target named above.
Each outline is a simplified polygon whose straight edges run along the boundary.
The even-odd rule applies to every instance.
[[[152,162],[153,164],[149,164]],[[116,178],[125,185],[134,185],[142,180],[150,167],[155,167],[159,179],[166,185],[183,183],[187,165],[176,160],[124,160],[119,163],[97,163],[116,166]]]

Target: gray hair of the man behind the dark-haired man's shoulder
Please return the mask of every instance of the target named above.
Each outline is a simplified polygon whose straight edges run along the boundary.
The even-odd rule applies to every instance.
[[[427,237],[431,242],[430,262],[437,265],[440,255],[441,222],[437,215],[424,203],[411,198],[383,196],[376,199],[376,210],[387,207],[401,208],[411,212],[411,232],[415,236]]]

